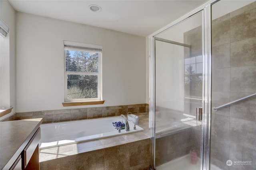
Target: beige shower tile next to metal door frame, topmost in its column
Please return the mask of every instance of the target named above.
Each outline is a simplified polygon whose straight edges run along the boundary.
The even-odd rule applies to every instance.
[[[212,47],[230,43],[230,14],[212,21]]]

